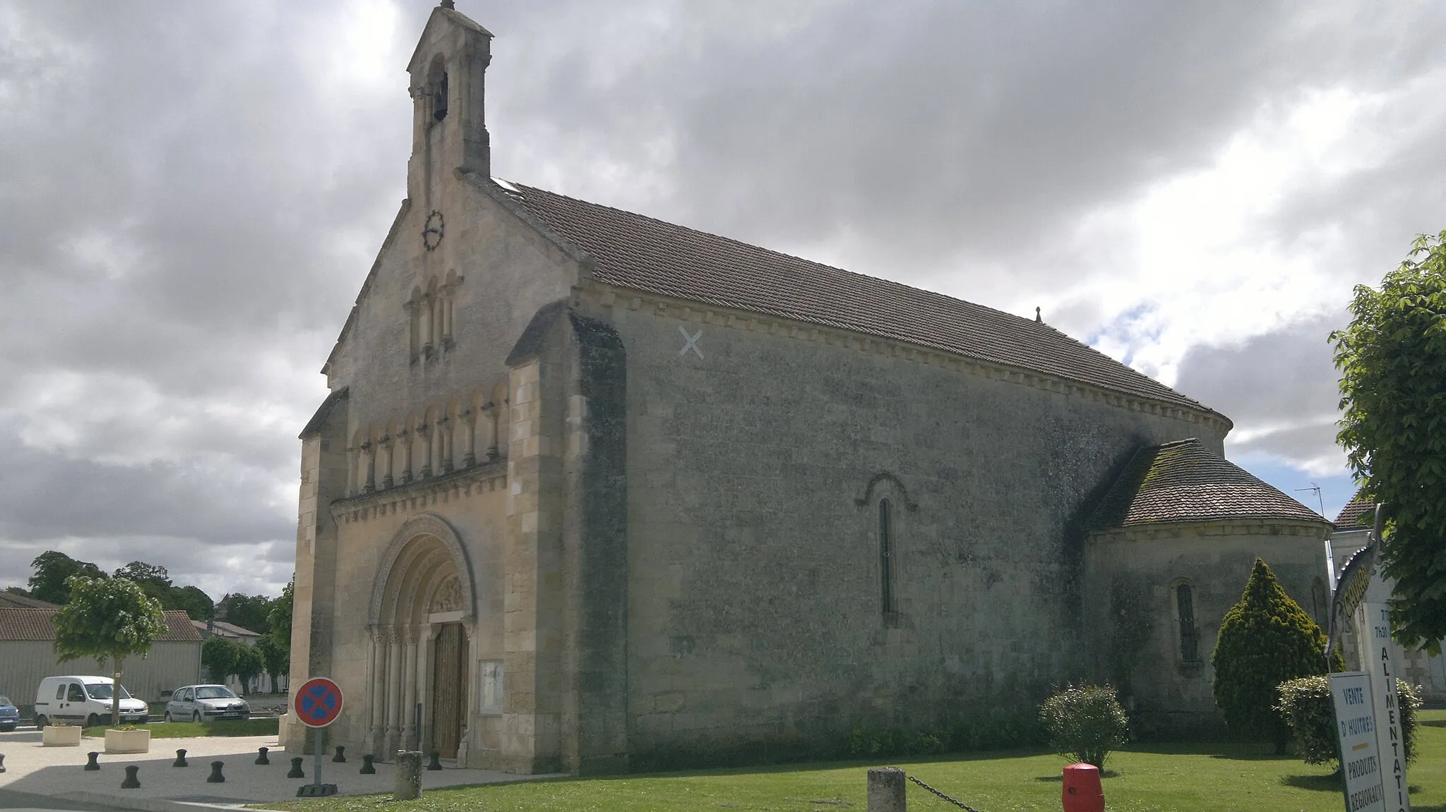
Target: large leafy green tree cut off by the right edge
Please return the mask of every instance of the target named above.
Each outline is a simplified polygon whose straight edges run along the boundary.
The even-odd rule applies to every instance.
[[[1395,579],[1391,626],[1440,653],[1446,637],[1446,231],[1421,234],[1381,289],[1355,289],[1351,327],[1330,334],[1340,432],[1366,496],[1384,501],[1381,561]]]

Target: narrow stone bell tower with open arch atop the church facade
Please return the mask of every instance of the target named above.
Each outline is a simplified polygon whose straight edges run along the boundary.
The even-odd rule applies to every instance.
[[[406,196],[429,211],[455,169],[492,175],[483,117],[492,32],[442,0],[406,65],[412,94],[412,157]]]

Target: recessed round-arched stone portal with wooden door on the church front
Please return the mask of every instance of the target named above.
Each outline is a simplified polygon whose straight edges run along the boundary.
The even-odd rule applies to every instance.
[[[457,756],[467,734],[474,607],[471,566],[451,524],[435,513],[402,524],[379,562],[367,617],[373,753]]]

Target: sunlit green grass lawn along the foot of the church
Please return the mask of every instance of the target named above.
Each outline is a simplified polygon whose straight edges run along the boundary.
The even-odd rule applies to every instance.
[[[1446,711],[1421,712],[1420,759],[1408,770],[1411,809],[1446,812]],[[1111,812],[1340,812],[1329,770],[1268,754],[1268,746],[1151,746],[1111,756]],[[930,761],[891,761],[980,812],[1058,812],[1064,760],[1040,753],[980,753]],[[421,800],[330,798],[268,805],[298,812],[672,812],[771,809],[811,812],[868,808],[869,766],[797,764],[603,779],[565,779],[428,790]],[[337,782],[346,792],[346,779]],[[910,785],[908,808],[956,809]]]

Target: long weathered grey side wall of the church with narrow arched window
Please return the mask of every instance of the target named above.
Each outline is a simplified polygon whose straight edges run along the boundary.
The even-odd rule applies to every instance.
[[[1031,708],[1083,653],[1095,500],[1141,445],[1223,442],[1218,418],[626,302],[603,312],[628,350],[635,766]]]

